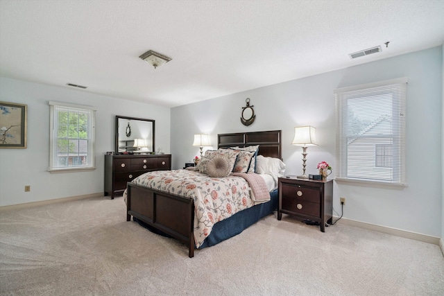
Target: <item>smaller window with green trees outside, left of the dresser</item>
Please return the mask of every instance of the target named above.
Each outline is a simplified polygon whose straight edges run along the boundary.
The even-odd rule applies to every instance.
[[[93,169],[95,110],[56,102],[49,108],[49,171]]]

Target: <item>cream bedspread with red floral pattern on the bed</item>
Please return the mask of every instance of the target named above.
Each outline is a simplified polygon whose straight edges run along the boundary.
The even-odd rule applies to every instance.
[[[248,182],[242,177],[210,177],[188,170],[145,173],[133,183],[194,200],[194,241],[200,247],[214,223],[253,207]]]

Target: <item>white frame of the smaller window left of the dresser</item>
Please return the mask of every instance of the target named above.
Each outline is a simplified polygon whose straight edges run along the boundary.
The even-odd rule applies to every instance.
[[[91,159],[86,165],[76,165],[76,166],[57,166],[56,157],[58,157],[58,119],[55,114],[57,108],[63,108],[67,110],[71,110],[73,112],[87,112],[90,116],[90,123],[88,125],[88,138],[87,141],[91,143],[87,145],[87,158]],[[49,101],[49,173],[67,173],[72,171],[93,171],[96,169],[96,157],[95,157],[95,125],[96,125],[96,109],[87,105],[76,105],[69,103],[60,103]],[[57,121],[57,122],[56,122]],[[83,138],[73,138],[80,140],[85,140]],[[69,157],[67,155],[66,157]],[[78,155],[73,156],[78,157]]]

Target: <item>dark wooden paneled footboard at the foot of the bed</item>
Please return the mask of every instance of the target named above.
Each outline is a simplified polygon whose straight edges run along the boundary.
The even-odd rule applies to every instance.
[[[194,256],[194,202],[128,183],[126,220],[131,216],[144,221],[155,229],[173,236],[188,246],[188,256]]]

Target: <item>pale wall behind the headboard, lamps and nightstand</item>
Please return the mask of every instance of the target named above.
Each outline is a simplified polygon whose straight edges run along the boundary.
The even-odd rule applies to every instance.
[[[191,146],[195,133],[210,134],[216,148],[218,133],[282,130],[287,173],[302,173],[302,150],[290,144],[293,128],[298,125],[313,125],[319,142],[319,146],[307,150],[307,173],[316,173],[316,164],[323,160],[336,168],[333,90],[407,76],[409,186],[392,189],[335,182],[334,209],[340,213],[341,196],[346,198],[345,218],[442,236],[442,170],[438,167],[441,164],[443,128],[442,57],[440,46],[175,107],[171,110],[173,168],[181,168],[199,154],[199,148]],[[245,106],[246,98],[250,98],[257,114],[255,123],[248,127],[240,122],[241,107]]]

